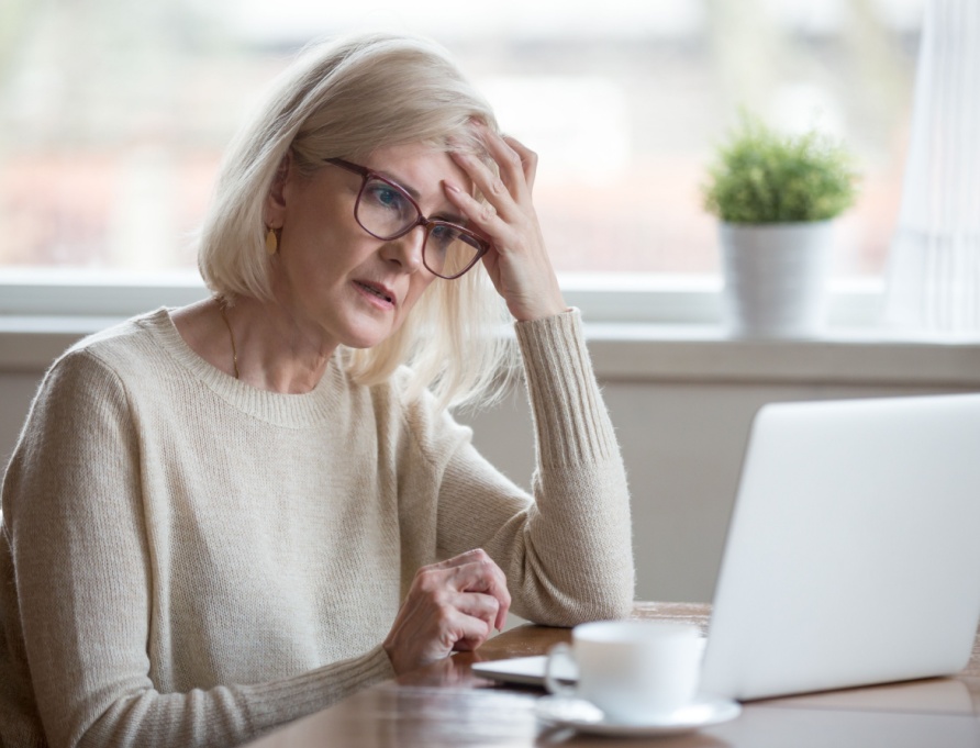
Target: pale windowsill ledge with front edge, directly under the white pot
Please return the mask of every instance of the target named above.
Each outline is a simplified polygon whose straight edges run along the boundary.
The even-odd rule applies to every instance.
[[[0,372],[44,371],[121,316],[0,316]],[[610,381],[769,382],[980,388],[980,335],[913,336],[833,327],[814,339],[735,339],[714,324],[586,324],[597,375]]]

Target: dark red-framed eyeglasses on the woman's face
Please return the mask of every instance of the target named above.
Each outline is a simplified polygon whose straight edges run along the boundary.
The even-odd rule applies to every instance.
[[[422,215],[403,187],[376,171],[342,158],[327,158],[364,180],[354,203],[354,217],[375,238],[388,241],[404,236],[415,226],[425,228],[422,264],[435,276],[453,280],[469,270],[490,249],[490,242],[463,226]]]

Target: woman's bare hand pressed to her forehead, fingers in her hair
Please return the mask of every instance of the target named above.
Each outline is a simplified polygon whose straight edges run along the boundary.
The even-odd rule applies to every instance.
[[[476,156],[453,152],[453,158],[487,202],[478,202],[457,185],[446,183],[446,194],[470,225],[493,243],[483,255],[483,266],[511,314],[522,321],[560,314],[568,308],[531,201],[537,154],[512,137],[501,137],[486,125],[474,126],[497,161],[500,176]]]

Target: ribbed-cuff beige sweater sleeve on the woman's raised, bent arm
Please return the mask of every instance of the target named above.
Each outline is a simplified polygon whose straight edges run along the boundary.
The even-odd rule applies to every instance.
[[[439,491],[442,551],[482,547],[519,615],[570,626],[627,615],[630,495],[577,310],[516,324],[536,439],[534,500],[464,440]]]

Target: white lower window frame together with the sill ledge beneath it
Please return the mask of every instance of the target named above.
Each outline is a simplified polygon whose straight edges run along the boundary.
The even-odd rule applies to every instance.
[[[728,337],[721,280],[639,273],[564,275],[606,381],[803,383],[980,389],[980,334],[914,335],[877,324],[881,280],[836,281],[818,339]],[[66,348],[141,311],[207,298],[193,271],[0,272],[0,372],[44,371]]]

